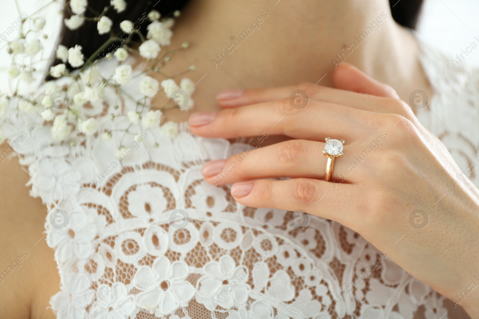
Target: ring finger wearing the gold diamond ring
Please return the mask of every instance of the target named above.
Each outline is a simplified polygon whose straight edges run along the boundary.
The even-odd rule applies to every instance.
[[[217,186],[258,178],[324,179],[327,157],[323,150],[324,143],[308,140],[290,140],[264,147],[256,143],[255,149],[235,154],[226,160],[206,163],[202,173],[208,183]],[[334,159],[332,177],[336,183],[346,181],[349,174],[341,173],[351,166],[354,160],[352,154],[356,153],[348,148],[344,156]]]

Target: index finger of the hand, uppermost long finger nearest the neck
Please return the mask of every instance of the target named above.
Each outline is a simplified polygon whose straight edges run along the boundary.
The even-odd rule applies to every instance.
[[[306,94],[296,92],[297,90],[304,91]],[[396,108],[385,104],[384,99],[380,99],[377,96],[360,94],[352,90],[346,91],[337,88],[327,88],[312,83],[302,83],[296,86],[281,88],[228,89],[217,94],[217,101],[222,108],[236,108],[277,99],[289,99],[291,95],[293,95],[293,99],[300,97],[305,100],[313,99],[360,110],[379,113],[397,113]]]

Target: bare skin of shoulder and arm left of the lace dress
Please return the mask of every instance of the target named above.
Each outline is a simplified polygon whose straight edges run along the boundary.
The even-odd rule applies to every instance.
[[[29,195],[28,173],[11,153],[0,145],[0,309],[5,318],[55,318],[47,307],[60,280],[44,236],[46,207]]]

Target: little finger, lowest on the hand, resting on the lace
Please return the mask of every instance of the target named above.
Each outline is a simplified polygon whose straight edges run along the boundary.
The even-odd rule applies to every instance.
[[[354,218],[350,212],[361,207],[361,189],[354,184],[336,184],[317,179],[259,179],[239,182],[231,195],[248,207],[304,210],[309,214],[342,222]],[[338,202],[338,200],[340,202]]]

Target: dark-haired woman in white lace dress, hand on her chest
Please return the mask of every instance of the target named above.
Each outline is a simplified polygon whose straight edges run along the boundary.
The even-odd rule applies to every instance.
[[[70,9],[101,20],[109,5],[82,3],[71,1],[68,23]],[[108,11],[110,17],[148,30],[136,17],[153,3],[148,10],[120,4],[112,1],[121,12]],[[166,6],[165,14],[178,9]],[[406,20],[412,27],[414,18]],[[82,23],[62,44],[103,57],[97,49],[108,35],[85,35],[102,33],[100,21]],[[478,140],[472,124],[448,114],[477,119],[472,99],[451,108],[476,94],[471,71],[452,71],[394,22],[383,0],[192,1],[174,32],[168,47],[188,40],[189,50],[174,52],[157,70],[145,50],[128,43],[135,48],[129,63],[153,80],[195,65],[194,110],[175,110],[182,102],[162,109],[168,121],[189,119],[189,129],[164,120],[158,127],[146,106],[169,99],[149,94],[154,82],[139,77],[138,95],[135,76],[121,85],[118,72],[111,78],[122,94],[105,90],[94,101],[90,93],[89,103],[77,103],[82,108],[68,106],[78,134],[64,134],[59,125],[70,124],[57,114],[53,121],[9,109],[2,130],[28,165],[27,185],[48,215],[45,221],[40,198],[26,194],[29,176],[5,161],[2,260],[12,270],[0,288],[6,316],[477,318],[478,190],[463,173],[478,185]],[[118,61],[104,60],[100,76],[81,70],[85,92],[111,80]],[[70,66],[75,62],[68,55]],[[466,89],[457,86],[464,77]],[[311,84],[298,85],[305,82]],[[173,84],[162,86],[166,92]],[[411,103],[411,110],[401,101],[411,95],[413,102],[432,97],[431,105]],[[57,105],[51,96],[48,103],[49,110]],[[96,121],[85,123],[84,114]],[[327,137],[344,146],[331,150]],[[329,182],[323,149],[343,153]],[[269,179],[279,177],[289,179]]]

